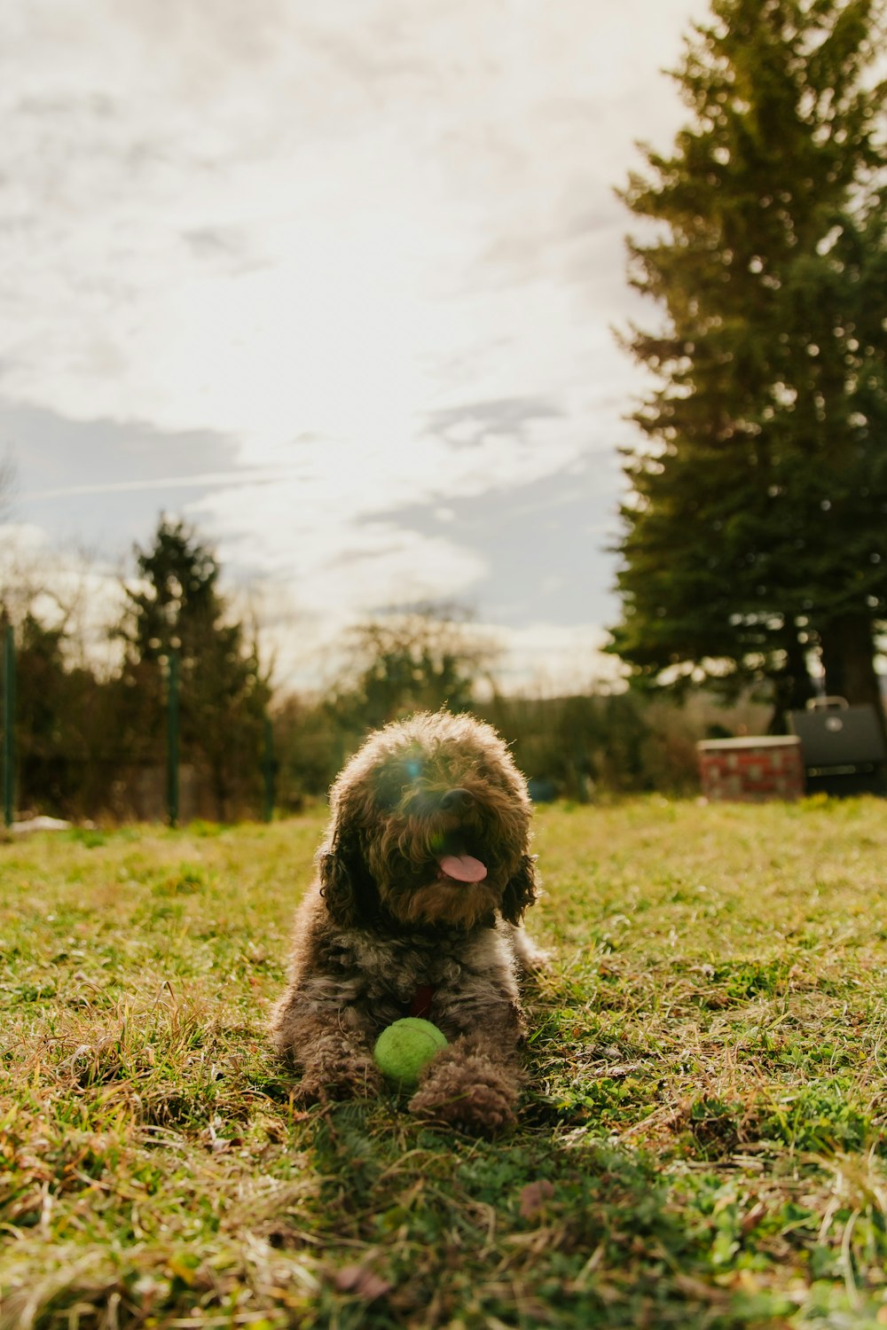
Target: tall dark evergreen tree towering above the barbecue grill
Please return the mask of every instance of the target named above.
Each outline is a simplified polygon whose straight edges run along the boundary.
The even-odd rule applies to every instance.
[[[883,0],[714,0],[674,73],[693,113],[626,205],[636,412],[614,649],[641,680],[767,677],[777,706],[879,702],[887,620]],[[669,677],[669,676],[666,676]]]

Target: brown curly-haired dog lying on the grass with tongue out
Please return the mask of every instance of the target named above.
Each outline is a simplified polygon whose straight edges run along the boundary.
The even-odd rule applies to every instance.
[[[519,928],[536,899],[527,783],[489,725],[423,713],[372,734],[331,794],[297,918],[277,1048],[315,1099],[376,1095],[379,1032],[424,1016],[448,1039],[410,1109],[473,1130],[513,1119],[524,1016]]]

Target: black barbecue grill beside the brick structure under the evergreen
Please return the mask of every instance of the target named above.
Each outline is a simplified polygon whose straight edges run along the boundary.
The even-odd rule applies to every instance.
[[[801,739],[809,794],[887,794],[887,743],[874,706],[818,697],[789,716]]]

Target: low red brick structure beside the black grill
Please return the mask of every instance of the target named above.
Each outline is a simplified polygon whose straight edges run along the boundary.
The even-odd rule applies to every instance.
[[[702,793],[709,799],[799,799],[803,757],[797,735],[705,739],[697,743]]]

